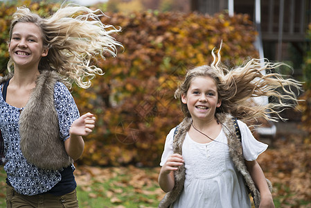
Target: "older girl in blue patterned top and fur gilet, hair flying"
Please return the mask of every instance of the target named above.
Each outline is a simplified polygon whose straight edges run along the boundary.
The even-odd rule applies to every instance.
[[[10,73],[0,80],[7,207],[78,207],[73,161],[95,117],[79,115],[67,87],[89,87],[103,74],[91,56],[116,55],[121,46],[109,35],[119,30],[96,12],[66,6],[44,19],[21,7],[12,15]]]

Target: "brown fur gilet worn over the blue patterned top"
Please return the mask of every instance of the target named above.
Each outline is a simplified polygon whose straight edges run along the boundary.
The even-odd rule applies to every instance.
[[[1,78],[4,83],[12,73]],[[19,116],[21,153],[38,168],[60,170],[73,163],[67,155],[54,106],[54,86],[60,80],[54,71],[42,71]]]

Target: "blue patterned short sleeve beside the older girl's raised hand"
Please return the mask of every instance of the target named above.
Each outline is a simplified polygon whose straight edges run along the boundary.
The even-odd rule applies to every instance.
[[[57,82],[55,84],[54,105],[60,125],[60,139],[65,141],[69,138],[71,124],[79,118],[80,114],[73,96],[63,83]]]

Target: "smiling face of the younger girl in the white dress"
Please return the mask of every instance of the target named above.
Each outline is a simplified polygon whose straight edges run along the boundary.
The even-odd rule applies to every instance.
[[[210,120],[215,118],[216,107],[220,107],[215,80],[209,76],[193,78],[187,94],[181,95],[193,119]]]

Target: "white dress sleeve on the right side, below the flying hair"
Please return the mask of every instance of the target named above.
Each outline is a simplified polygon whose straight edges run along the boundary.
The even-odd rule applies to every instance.
[[[255,139],[251,130],[242,121],[238,121],[241,131],[243,155],[247,161],[254,161],[267,150],[268,145]]]

